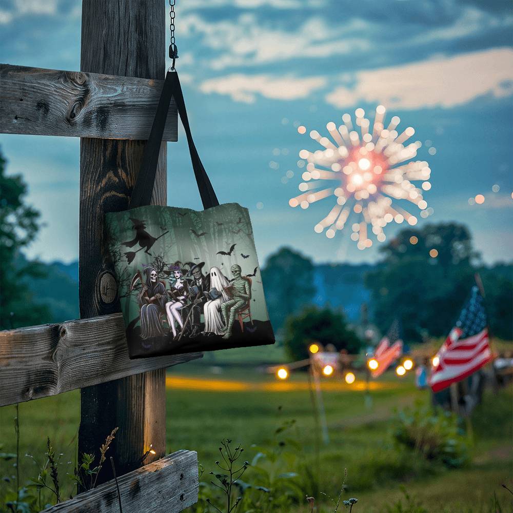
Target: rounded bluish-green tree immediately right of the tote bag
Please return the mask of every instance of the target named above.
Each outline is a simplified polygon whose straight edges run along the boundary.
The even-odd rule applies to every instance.
[[[262,281],[274,329],[280,329],[288,315],[311,301],[315,292],[313,271],[312,261],[290,248],[280,248],[267,259]]]

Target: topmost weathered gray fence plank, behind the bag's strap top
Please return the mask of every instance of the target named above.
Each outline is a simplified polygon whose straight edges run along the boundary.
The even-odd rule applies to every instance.
[[[0,64],[0,132],[148,139],[163,80]],[[164,141],[177,140],[174,101]]]

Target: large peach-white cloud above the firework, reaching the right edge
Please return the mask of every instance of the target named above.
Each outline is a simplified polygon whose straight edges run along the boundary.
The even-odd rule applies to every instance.
[[[326,102],[337,108],[362,101],[402,109],[455,107],[485,94],[496,98],[513,94],[513,49],[494,48],[360,71],[341,80],[345,84],[326,95]]]

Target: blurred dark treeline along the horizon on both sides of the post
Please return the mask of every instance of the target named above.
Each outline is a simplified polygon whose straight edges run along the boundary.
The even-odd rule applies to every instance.
[[[25,203],[26,193],[22,176],[8,175],[0,155],[1,329],[79,317],[78,262],[25,258],[24,248],[41,226],[40,214]],[[412,235],[415,245],[409,242]],[[433,248],[436,259],[429,257]],[[487,266],[465,225],[438,223],[402,230],[382,246],[374,265],[315,264],[281,247],[261,262],[259,272],[278,340],[315,332],[320,342],[354,352],[364,338],[362,324],[372,324],[379,336],[394,318],[401,319],[406,342],[446,335],[476,273],[486,291],[492,336],[511,340],[513,262],[506,256]]]

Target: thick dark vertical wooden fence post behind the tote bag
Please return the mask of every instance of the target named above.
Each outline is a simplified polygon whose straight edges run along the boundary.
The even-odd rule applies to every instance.
[[[163,79],[166,9],[162,0],[83,0],[81,70]],[[85,100],[87,102],[87,98]],[[97,116],[108,118],[108,110]],[[108,263],[104,213],[124,210],[139,170],[144,141],[81,139],[80,314],[120,311]],[[166,204],[166,148],[160,153],[153,203]],[[165,369],[137,374],[81,391],[79,453],[98,448],[119,427],[109,449],[118,475],[165,454]],[[141,458],[152,444],[155,454]],[[112,478],[104,465],[98,483]]]

